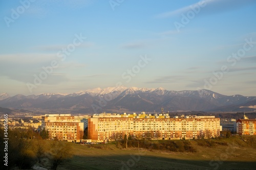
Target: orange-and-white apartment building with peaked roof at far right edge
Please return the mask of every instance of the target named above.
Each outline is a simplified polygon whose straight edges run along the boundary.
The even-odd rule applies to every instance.
[[[256,119],[249,119],[246,115],[237,120],[239,135],[256,135]]]

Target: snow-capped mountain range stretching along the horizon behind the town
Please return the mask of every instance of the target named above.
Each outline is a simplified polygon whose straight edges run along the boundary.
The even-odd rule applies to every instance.
[[[71,94],[0,94],[0,107],[72,113],[164,111],[255,111],[256,96],[223,95],[210,90],[107,87]]]

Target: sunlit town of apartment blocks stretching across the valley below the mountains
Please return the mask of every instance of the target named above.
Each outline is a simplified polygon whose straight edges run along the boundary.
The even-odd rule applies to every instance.
[[[1,119],[4,127],[5,119]],[[45,114],[9,118],[10,129],[45,130],[48,139],[69,142],[110,142],[126,138],[174,140],[209,139],[228,131],[237,135],[256,135],[256,119],[245,114],[240,119],[211,115],[169,116],[169,113],[100,113],[92,115]],[[87,134],[84,136],[84,134]]]

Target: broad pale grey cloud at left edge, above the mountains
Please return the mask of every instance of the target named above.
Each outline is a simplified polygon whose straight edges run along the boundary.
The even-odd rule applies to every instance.
[[[43,67],[51,65],[51,61],[58,60],[55,54],[7,54],[0,55],[0,76],[7,77],[19,82],[33,82],[35,76],[41,72],[46,72]],[[67,68],[74,70],[77,67],[85,67],[83,63],[62,62],[59,60],[59,66],[52,69],[51,74],[47,74],[47,79],[42,84],[58,84],[69,81],[66,74]]]

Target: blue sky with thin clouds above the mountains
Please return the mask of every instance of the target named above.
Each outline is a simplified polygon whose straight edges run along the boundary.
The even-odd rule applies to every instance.
[[[256,96],[256,1],[0,2],[0,93],[115,86]]]

